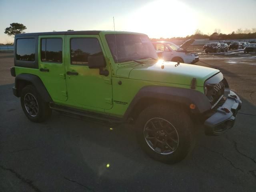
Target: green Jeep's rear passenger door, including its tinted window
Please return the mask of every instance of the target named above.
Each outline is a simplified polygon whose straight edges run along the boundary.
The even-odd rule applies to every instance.
[[[47,35],[38,37],[39,77],[52,100],[66,101],[65,36]]]

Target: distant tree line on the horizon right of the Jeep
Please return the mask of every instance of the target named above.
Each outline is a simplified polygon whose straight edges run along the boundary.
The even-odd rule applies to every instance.
[[[241,28],[230,34],[221,33],[220,29],[215,29],[212,34],[203,34],[197,29],[194,34],[186,37],[172,37],[172,38],[152,38],[152,41],[171,41],[171,40],[188,40],[188,39],[210,39],[210,40],[228,40],[228,39],[256,39],[256,28],[251,30]]]

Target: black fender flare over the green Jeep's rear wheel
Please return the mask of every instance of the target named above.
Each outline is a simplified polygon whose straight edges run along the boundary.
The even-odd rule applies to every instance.
[[[46,87],[44,86],[44,83],[42,82],[42,80],[36,75],[26,74],[26,73],[19,74],[15,78],[15,88],[17,90],[18,97],[20,97],[21,90],[23,88],[23,87],[20,87],[20,85],[19,85],[20,82],[22,82],[22,81],[23,82],[25,81],[29,84],[34,85],[37,92],[42,96],[42,99],[45,102],[52,102],[52,98],[51,98],[50,94],[48,93]]]

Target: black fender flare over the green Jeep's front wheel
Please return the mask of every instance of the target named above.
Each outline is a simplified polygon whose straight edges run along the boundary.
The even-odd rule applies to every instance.
[[[180,103],[190,109],[190,104],[195,104],[196,108],[193,113],[204,113],[212,108],[209,99],[201,92],[187,89],[168,86],[145,86],[141,88],[134,96],[132,102],[124,113],[124,118],[129,118],[132,110],[136,107],[141,99],[152,98],[155,100],[164,100],[171,103]]]

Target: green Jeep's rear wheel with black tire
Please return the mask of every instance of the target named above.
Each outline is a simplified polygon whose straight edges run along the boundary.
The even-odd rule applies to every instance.
[[[36,88],[32,85],[22,89],[20,103],[23,112],[32,122],[43,122],[52,114],[49,104],[44,102]]]

